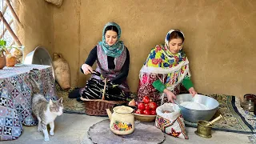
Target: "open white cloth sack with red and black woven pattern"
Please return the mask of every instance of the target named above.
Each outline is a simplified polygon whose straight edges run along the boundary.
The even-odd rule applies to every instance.
[[[189,138],[186,134],[184,118],[180,113],[178,105],[164,103],[162,106],[158,106],[156,112],[157,117],[154,125],[158,127],[158,129],[176,138]]]

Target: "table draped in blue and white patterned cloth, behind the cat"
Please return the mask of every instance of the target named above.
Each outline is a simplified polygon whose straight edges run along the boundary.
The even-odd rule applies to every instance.
[[[22,134],[22,125],[38,123],[31,111],[32,87],[27,81],[33,69],[45,98],[57,100],[51,66],[4,67],[0,70],[0,141],[17,139]]]

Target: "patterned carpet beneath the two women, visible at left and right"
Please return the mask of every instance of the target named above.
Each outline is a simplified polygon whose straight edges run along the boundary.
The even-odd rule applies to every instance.
[[[83,102],[78,102],[75,98],[68,98],[68,91],[63,91],[56,84],[58,97],[63,98],[64,112],[72,114],[85,114],[85,106]],[[215,114],[214,118],[219,114],[222,114],[224,118],[214,123],[213,130],[242,133],[242,134],[254,134],[256,133],[256,117],[254,114],[245,112],[240,106],[240,100],[238,97],[230,95],[218,95],[211,94],[211,98],[218,100],[219,110]],[[197,123],[185,122],[186,126],[197,127]]]

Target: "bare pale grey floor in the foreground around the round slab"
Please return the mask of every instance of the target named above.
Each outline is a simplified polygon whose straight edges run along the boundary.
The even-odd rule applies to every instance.
[[[63,114],[55,120],[54,136],[50,136],[50,142],[44,142],[42,133],[37,131],[37,126],[23,126],[23,133],[18,140],[0,142],[5,144],[90,144],[92,143],[87,138],[87,130],[94,123],[102,121],[106,117],[94,117],[85,114]],[[195,128],[186,127],[186,131],[189,135],[189,140],[182,138],[174,138],[170,135],[166,135],[167,143],[203,143],[203,144],[242,144],[250,143],[248,134],[235,134],[222,131],[212,131],[212,138],[201,138],[194,134]],[[145,143],[145,142],[142,142]]]

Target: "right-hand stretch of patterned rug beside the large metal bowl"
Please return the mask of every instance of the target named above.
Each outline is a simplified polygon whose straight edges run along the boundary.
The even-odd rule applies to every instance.
[[[212,130],[227,131],[242,134],[256,133],[256,117],[254,114],[246,112],[240,106],[238,97],[230,95],[211,94],[208,95],[219,102],[218,111],[214,118],[222,114],[224,118],[214,123]],[[213,119],[214,119],[213,118]],[[186,122],[186,126],[197,127],[197,123]]]

